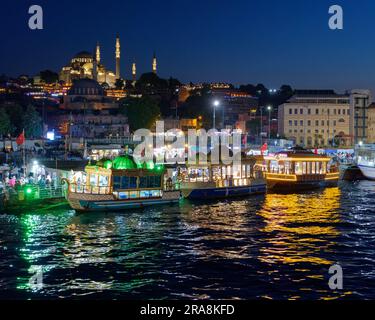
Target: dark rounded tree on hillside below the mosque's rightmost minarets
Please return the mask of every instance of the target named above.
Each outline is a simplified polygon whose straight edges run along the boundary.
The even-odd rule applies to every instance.
[[[128,117],[131,131],[150,129],[160,117],[160,108],[156,101],[145,96],[126,98],[121,102],[120,112]]]

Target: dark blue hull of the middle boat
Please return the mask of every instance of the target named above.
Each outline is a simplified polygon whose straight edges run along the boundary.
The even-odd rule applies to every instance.
[[[182,189],[182,194],[185,198],[190,200],[203,200],[245,197],[250,195],[263,194],[266,193],[266,191],[267,186],[264,183],[242,187]]]

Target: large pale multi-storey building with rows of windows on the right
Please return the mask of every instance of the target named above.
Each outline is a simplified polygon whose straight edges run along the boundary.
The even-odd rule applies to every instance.
[[[278,133],[305,147],[350,146],[351,95],[297,90],[278,109]]]

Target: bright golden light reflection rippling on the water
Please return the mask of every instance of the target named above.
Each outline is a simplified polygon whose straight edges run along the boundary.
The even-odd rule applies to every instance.
[[[269,234],[268,245],[260,249],[259,259],[268,264],[308,263],[331,265],[322,253],[332,252],[340,235],[338,209],[341,192],[328,188],[311,194],[268,194],[258,215]]]

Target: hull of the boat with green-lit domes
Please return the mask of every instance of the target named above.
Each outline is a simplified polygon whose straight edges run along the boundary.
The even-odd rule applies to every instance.
[[[76,211],[122,211],[139,209],[155,205],[178,203],[181,199],[180,191],[164,192],[160,198],[145,199],[115,199],[112,195],[82,195],[69,194],[68,202]]]

